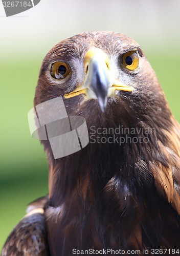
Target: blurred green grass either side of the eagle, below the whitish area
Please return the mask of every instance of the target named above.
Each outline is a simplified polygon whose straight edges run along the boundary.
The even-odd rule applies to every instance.
[[[178,121],[179,54],[177,48],[151,49],[146,55],[156,71]],[[32,200],[48,193],[48,164],[39,141],[30,136],[27,113],[33,98],[42,58],[1,60],[1,172],[0,250]],[[154,92],[155,93],[155,92]]]

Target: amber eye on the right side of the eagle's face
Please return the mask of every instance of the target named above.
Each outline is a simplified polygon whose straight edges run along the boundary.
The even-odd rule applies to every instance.
[[[134,51],[129,51],[123,55],[123,65],[129,70],[137,69],[139,66],[138,54]]]

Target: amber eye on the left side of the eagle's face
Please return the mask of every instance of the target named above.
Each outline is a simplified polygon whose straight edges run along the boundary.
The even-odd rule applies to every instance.
[[[71,72],[70,67],[65,62],[54,62],[51,66],[51,76],[56,79],[63,79]]]

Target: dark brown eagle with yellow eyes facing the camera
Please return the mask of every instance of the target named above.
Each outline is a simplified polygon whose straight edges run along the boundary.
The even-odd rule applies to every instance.
[[[102,51],[92,53],[94,48]],[[106,63],[105,78],[99,77],[97,54]],[[52,65],[59,61],[69,69],[62,79],[53,73]],[[135,68],[130,69],[131,65]],[[92,67],[99,73],[93,73]],[[87,77],[94,82],[85,92],[77,93]],[[106,78],[111,84],[105,84]],[[115,87],[115,81],[123,87]],[[90,141],[81,151],[55,160],[49,141],[42,141],[50,166],[49,199],[41,222],[47,225],[49,255],[72,255],[73,248],[141,253],[149,249],[149,254],[151,249],[178,249],[180,129],[140,46],[123,34],[103,31],[61,41],[42,62],[34,104],[59,96],[63,96],[69,116],[86,119],[89,135],[92,126],[97,131],[121,125],[135,129],[134,134],[128,134],[131,139],[141,135],[148,142],[131,140],[120,145]],[[146,134],[147,130],[153,132]],[[111,133],[100,137],[108,138]],[[126,138],[126,134],[121,137]],[[3,256],[10,255],[6,254],[9,239]],[[18,247],[16,238],[14,245]],[[14,249],[13,255],[23,254]]]

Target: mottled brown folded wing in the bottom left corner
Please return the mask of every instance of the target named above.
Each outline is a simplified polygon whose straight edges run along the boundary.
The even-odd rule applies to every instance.
[[[11,232],[1,256],[50,255],[44,209],[38,206],[42,206],[42,199],[29,205],[30,211]]]

